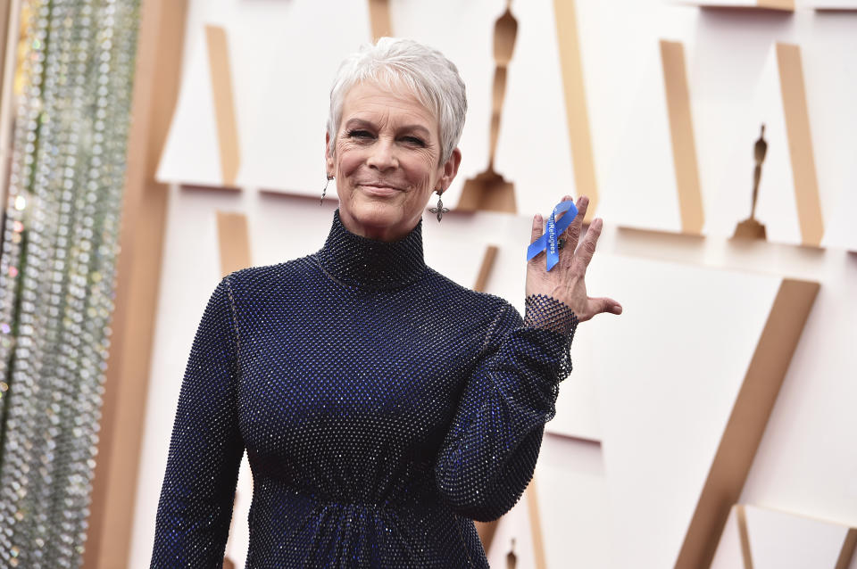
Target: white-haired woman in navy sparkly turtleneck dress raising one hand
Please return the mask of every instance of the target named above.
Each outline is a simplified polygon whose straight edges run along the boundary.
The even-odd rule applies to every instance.
[[[587,297],[601,221],[575,252],[586,198],[560,264],[529,262],[524,320],[426,267],[421,215],[458,170],[465,109],[455,66],[423,45],[382,38],[343,63],[327,241],[236,271],[212,294],[182,383],[153,567],[220,566],[245,449],[247,567],[487,567],[473,520],[520,499],[575,326],[620,306]]]

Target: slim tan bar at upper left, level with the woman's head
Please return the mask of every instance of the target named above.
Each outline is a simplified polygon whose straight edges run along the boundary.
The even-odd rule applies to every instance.
[[[212,75],[214,120],[217,124],[217,140],[220,148],[220,174],[223,177],[223,186],[233,186],[241,158],[226,30],[220,26],[205,26],[205,40],[208,45],[208,62]]]

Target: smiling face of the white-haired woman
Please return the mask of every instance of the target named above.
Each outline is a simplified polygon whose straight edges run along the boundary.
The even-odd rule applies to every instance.
[[[395,241],[420,220],[428,198],[453,181],[462,153],[440,164],[437,118],[419,99],[370,82],[345,95],[337,139],[326,137],[339,217],[356,235]]]

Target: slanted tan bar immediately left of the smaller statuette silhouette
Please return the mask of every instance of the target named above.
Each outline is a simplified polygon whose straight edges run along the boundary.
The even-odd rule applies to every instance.
[[[676,171],[681,231],[700,235],[703,232],[705,214],[703,194],[699,186],[690,95],[687,90],[685,46],[681,42],[661,39],[661,63],[667,110],[670,114],[672,158]]]

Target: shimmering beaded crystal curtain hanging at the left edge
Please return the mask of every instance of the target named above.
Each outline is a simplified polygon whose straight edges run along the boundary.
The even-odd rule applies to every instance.
[[[0,566],[80,565],[138,0],[29,0],[0,257]]]

